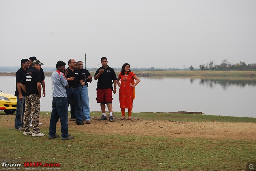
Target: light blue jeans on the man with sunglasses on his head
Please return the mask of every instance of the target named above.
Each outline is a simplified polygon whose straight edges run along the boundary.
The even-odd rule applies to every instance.
[[[90,107],[89,107],[89,95],[88,95],[88,87],[85,85],[83,87],[80,87],[80,90],[82,89],[80,93],[81,101],[82,101],[82,109],[84,113],[84,119],[85,121],[90,121]]]

